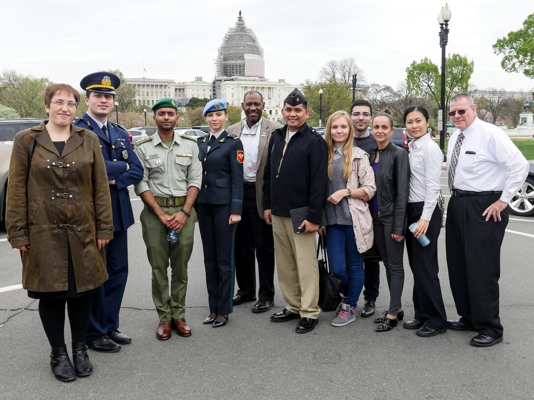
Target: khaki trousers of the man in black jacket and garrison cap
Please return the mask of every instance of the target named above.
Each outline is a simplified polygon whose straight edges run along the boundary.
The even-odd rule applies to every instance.
[[[278,282],[287,309],[301,317],[317,319],[319,306],[319,269],[317,235],[293,231],[291,219],[272,216],[274,255]]]

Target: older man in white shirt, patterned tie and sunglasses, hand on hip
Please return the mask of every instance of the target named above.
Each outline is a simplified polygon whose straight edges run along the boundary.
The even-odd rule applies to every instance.
[[[488,347],[502,341],[499,276],[506,206],[523,185],[529,166],[508,135],[478,119],[476,110],[468,94],[451,99],[449,115],[458,131],[448,146],[452,196],[445,245],[451,291],[461,318],[447,321],[447,327],[478,332],[471,344]]]

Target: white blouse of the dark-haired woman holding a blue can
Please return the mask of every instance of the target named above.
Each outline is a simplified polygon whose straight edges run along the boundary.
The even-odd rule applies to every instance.
[[[410,149],[410,203],[425,202],[421,219],[430,221],[441,188],[443,153],[427,133],[408,143]]]

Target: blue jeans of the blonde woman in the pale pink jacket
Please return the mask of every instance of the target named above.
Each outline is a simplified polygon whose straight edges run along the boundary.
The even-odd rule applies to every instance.
[[[347,296],[345,304],[356,307],[365,274],[364,255],[358,253],[352,225],[328,225],[326,251],[332,275],[341,279],[341,292]]]

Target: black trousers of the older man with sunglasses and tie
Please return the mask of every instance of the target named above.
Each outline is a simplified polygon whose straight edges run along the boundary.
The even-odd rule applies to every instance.
[[[472,325],[479,334],[500,337],[499,318],[500,247],[508,212],[501,211],[501,221],[484,210],[499,199],[499,194],[452,196],[447,206],[445,247],[452,297],[461,321]]]

